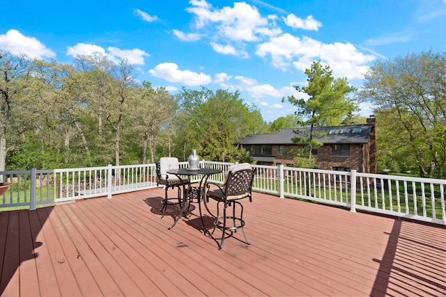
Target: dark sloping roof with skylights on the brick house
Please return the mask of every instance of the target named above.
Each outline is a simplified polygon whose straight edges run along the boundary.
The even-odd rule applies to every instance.
[[[315,138],[324,144],[353,144],[353,143],[368,143],[370,132],[373,129],[373,124],[360,124],[348,126],[334,126],[334,127],[315,127],[314,132],[324,134],[324,137]],[[293,131],[300,131],[303,134],[309,135],[310,128],[298,129],[282,129],[277,134],[256,134],[248,135],[240,139],[237,144],[240,145],[293,145],[292,138],[301,134],[295,134]]]

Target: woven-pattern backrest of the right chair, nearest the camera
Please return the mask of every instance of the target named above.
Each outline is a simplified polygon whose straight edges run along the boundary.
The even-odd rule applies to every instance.
[[[249,163],[240,163],[229,167],[226,182],[224,184],[224,195],[227,200],[249,197],[252,201],[252,182],[254,171]]]

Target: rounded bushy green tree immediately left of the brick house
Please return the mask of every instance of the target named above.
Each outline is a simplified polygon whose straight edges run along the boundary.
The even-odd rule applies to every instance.
[[[248,106],[238,92],[185,90],[181,93],[187,152],[196,148],[208,160],[239,161],[246,153],[234,145],[247,134],[259,133],[266,127],[260,112]],[[184,131],[184,129],[183,129]]]

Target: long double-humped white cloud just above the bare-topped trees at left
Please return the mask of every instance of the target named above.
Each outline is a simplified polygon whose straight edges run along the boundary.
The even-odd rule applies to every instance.
[[[78,43],[73,47],[68,47],[67,56],[91,55],[94,52],[99,52],[107,56],[110,61],[119,63],[123,59],[127,59],[130,64],[144,65],[144,56],[150,56],[141,49],[118,49],[117,47],[108,47],[108,52],[103,47],[98,45],[89,45],[85,43]]]

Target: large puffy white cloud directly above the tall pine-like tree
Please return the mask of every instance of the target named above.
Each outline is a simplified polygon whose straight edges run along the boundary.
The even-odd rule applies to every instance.
[[[362,54],[349,43],[325,44],[308,37],[298,38],[289,33],[260,44],[256,55],[263,58],[270,56],[271,64],[279,69],[286,70],[293,65],[302,72],[310,67],[312,61],[321,59],[323,63],[330,65],[334,77],[348,79],[362,78],[362,74],[367,70],[367,63],[376,58]]]

